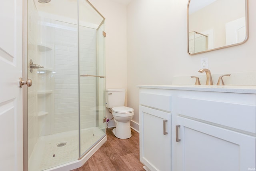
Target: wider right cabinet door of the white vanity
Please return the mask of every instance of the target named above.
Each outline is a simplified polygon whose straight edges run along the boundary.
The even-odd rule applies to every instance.
[[[184,117],[177,121],[178,171],[255,170],[256,137]]]

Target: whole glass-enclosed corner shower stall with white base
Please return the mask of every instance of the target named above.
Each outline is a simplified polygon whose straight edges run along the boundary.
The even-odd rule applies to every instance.
[[[27,0],[28,171],[80,167],[106,141],[104,20],[88,0]]]

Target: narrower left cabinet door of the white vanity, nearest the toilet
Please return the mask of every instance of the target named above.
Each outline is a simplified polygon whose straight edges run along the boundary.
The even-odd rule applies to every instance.
[[[170,113],[140,106],[140,161],[151,171],[171,171]]]

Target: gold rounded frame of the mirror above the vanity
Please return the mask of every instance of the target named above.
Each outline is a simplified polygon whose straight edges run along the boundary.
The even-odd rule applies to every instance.
[[[188,8],[189,8],[189,4],[190,4],[190,1],[191,0],[188,0],[188,6],[187,6],[187,52],[189,55],[196,55],[196,54],[201,54],[201,53],[205,53],[205,52],[210,52],[210,51],[213,51],[213,50],[218,50],[218,49],[222,49],[222,48],[228,48],[228,47],[231,47],[231,46],[237,46],[237,45],[240,45],[240,44],[243,44],[245,43],[247,40],[248,40],[248,0],[244,0],[245,1],[245,22],[246,22],[246,37],[244,39],[244,41],[240,42],[240,43],[236,43],[236,44],[230,44],[230,45],[226,45],[226,46],[221,46],[221,47],[218,47],[218,48],[213,48],[213,49],[210,49],[210,50],[204,50],[204,51],[201,51],[201,52],[196,52],[196,53],[193,53],[191,54],[189,52],[189,28],[188,28]],[[195,32],[196,34],[198,34],[197,32]],[[206,40],[207,41],[207,40]],[[206,45],[208,46],[208,45]]]

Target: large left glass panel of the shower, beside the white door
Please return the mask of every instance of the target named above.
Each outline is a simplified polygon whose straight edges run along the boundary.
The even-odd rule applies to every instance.
[[[29,171],[79,157],[78,4],[57,2],[28,0]]]

